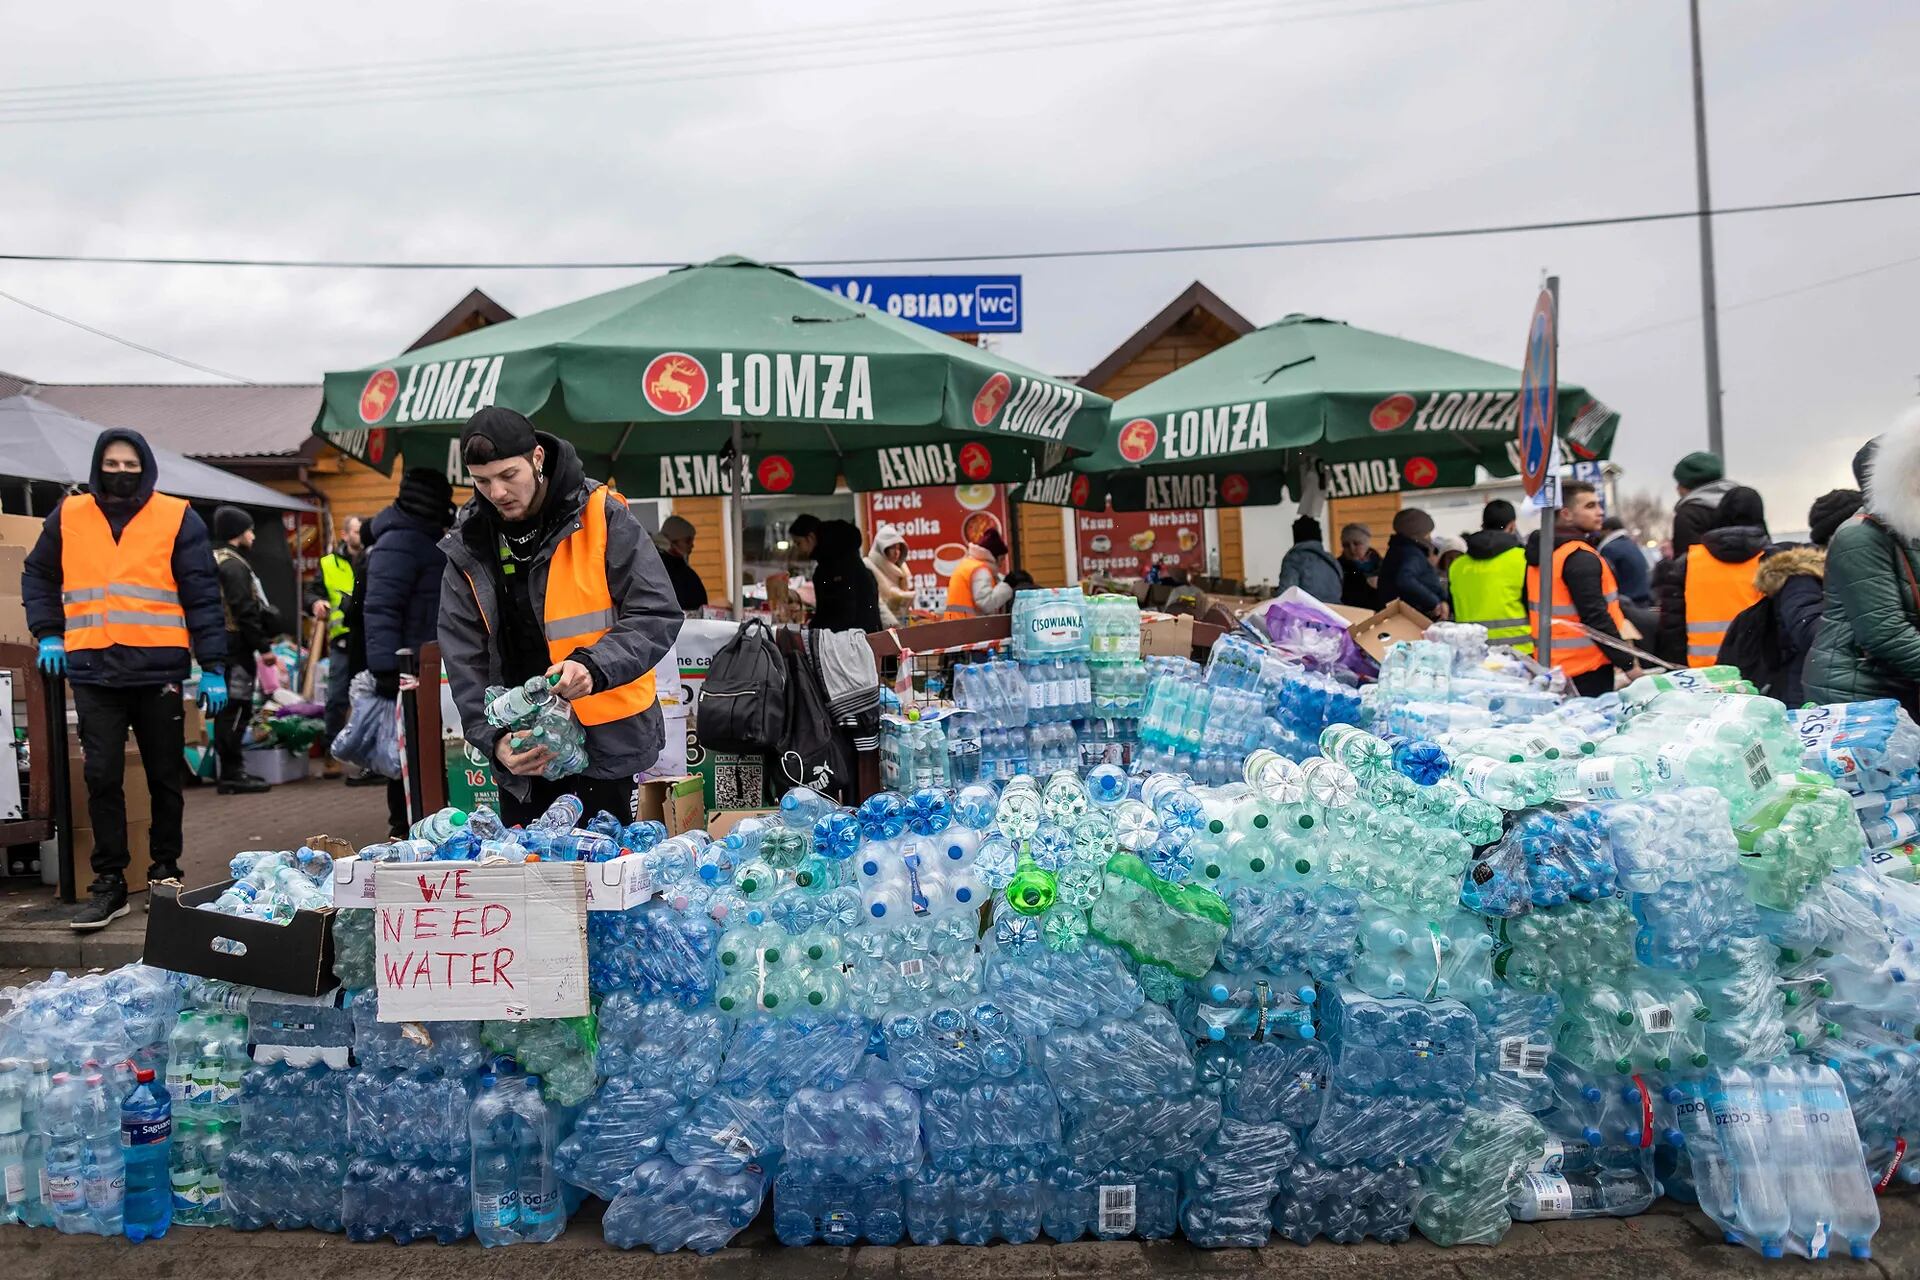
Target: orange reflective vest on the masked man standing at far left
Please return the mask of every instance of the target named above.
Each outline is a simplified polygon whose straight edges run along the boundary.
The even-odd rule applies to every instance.
[[[154,493],[113,537],[92,493],[75,493],[60,505],[67,651],[192,647],[173,581],[173,543],[184,518],[184,497]]]

